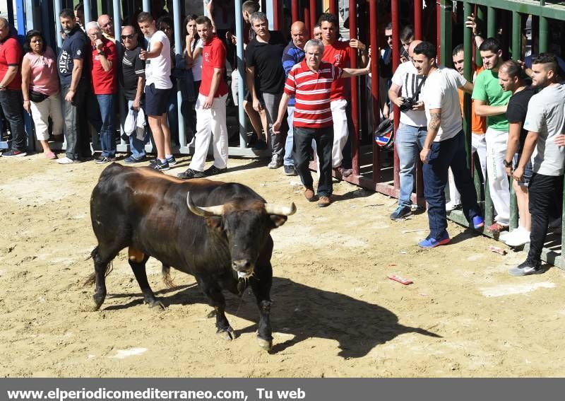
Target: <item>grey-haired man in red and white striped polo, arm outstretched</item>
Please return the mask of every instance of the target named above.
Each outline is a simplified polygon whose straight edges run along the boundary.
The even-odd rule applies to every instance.
[[[278,107],[278,118],[273,123],[273,133],[279,134],[280,124],[285,117],[288,100],[295,96],[295,115],[293,119],[293,157],[295,168],[302,184],[304,196],[309,202],[318,200],[319,207],[331,204],[333,119],[331,114],[331,84],[340,78],[367,75],[371,63],[364,69],[341,69],[322,62],[323,44],[312,39],[304,45],[306,57],[290,70],[285,83],[285,92]],[[314,194],[314,180],[308,168],[312,139],[316,141],[316,151],[320,161],[320,180],[317,197]]]

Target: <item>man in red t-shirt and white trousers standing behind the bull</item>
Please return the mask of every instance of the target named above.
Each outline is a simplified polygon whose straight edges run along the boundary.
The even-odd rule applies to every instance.
[[[196,134],[194,156],[189,168],[177,175],[179,178],[203,178],[224,173],[227,170],[227,127],[225,124],[225,100],[227,84],[223,79],[225,46],[213,34],[210,18],[196,18],[196,31],[204,43],[202,50],[202,81],[196,100]],[[206,154],[213,135],[214,164],[204,170]]]

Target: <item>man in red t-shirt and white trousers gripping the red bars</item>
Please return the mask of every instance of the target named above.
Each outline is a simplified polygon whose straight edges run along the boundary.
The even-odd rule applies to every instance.
[[[367,47],[357,39],[351,39],[349,42],[341,42],[338,40],[338,18],[330,13],[323,13],[319,18],[319,24],[322,31],[323,43],[323,62],[328,62],[341,69],[350,66],[350,48],[357,49],[362,52],[361,66],[367,65]],[[351,111],[347,112],[347,95],[349,95],[349,84],[342,77],[333,81],[331,86],[331,112],[333,115],[333,150],[332,150],[332,166],[340,169],[344,177],[351,175],[351,155],[345,155],[345,163],[343,162],[343,148],[347,142],[347,115],[351,115]],[[346,165],[342,165],[346,164]]]

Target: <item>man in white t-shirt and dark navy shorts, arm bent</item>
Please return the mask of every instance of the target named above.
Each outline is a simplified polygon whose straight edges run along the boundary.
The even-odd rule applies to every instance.
[[[139,58],[145,60],[145,114],[153,133],[157,158],[150,164],[155,170],[169,170],[177,163],[171,149],[171,132],[167,124],[167,103],[172,88],[171,44],[167,35],[157,30],[150,13],[139,13],[139,28],[148,40],[147,50]]]

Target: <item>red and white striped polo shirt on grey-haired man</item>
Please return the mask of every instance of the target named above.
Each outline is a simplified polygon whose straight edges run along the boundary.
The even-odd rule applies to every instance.
[[[326,62],[320,62],[318,71],[311,71],[306,60],[292,67],[285,83],[285,93],[295,96],[295,127],[324,128],[333,124],[331,83],[340,79],[342,73],[342,69]]]

